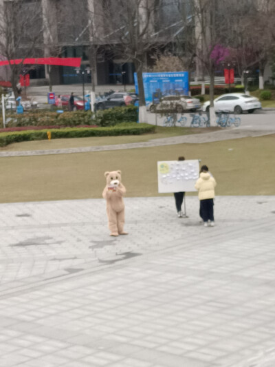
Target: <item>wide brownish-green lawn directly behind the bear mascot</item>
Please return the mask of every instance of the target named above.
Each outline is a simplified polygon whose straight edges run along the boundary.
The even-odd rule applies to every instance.
[[[217,195],[275,195],[275,136],[205,144],[0,158],[0,202],[101,198],[104,171],[122,170],[127,196],[159,196],[157,161],[201,159]],[[192,193],[195,194],[195,193]]]

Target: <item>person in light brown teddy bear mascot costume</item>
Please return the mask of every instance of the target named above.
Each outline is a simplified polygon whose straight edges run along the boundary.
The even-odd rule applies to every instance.
[[[107,216],[110,235],[126,235],[124,232],[124,202],[122,196],[126,193],[125,187],[121,183],[121,171],[105,172],[104,176],[107,185],[102,192],[102,196],[107,201]]]

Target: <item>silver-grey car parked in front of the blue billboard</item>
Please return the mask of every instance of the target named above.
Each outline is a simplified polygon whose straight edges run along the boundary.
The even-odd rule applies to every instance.
[[[190,96],[165,96],[160,98],[159,103],[148,105],[150,112],[169,110],[173,112],[196,111],[201,108],[199,99]]]

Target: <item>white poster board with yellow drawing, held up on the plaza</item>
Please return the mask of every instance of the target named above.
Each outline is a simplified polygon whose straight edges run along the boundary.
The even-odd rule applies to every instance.
[[[157,162],[159,193],[197,191],[199,160],[163,160]]]

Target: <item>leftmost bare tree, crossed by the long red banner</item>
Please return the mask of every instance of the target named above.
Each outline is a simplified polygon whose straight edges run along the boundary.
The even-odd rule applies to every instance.
[[[25,59],[42,56],[43,21],[41,1],[14,0],[0,4],[0,54],[3,59]],[[26,66],[27,67],[27,66]],[[14,96],[23,69],[21,63],[9,63]]]

